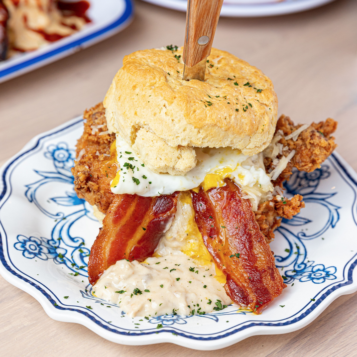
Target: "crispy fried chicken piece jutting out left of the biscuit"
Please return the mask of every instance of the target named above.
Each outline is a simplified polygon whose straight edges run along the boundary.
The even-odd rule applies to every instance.
[[[80,159],[72,168],[74,189],[79,198],[106,213],[115,196],[110,189],[110,182],[117,173],[117,153],[115,151],[111,157],[110,152],[115,135],[101,134],[108,130],[102,103],[85,111],[83,118],[84,132],[76,150],[76,157]]]

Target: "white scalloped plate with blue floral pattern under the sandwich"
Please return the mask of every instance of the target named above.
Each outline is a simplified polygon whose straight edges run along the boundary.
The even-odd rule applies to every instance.
[[[261,315],[229,306],[206,315],[128,318],[91,295],[88,284],[99,224],[75,195],[70,173],[82,131],[79,117],[40,134],[0,170],[0,273],[51,318],[125,345],[215,350],[253,335],[298,330],[357,290],[357,174],[334,153],[313,173],[295,172],[286,186],[289,195],[304,195],[306,208],[276,232],[271,247],[288,287]]]

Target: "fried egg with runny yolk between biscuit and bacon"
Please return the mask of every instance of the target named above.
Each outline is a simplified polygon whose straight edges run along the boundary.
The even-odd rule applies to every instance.
[[[153,197],[187,191],[200,186],[208,174],[218,174],[221,179],[230,177],[242,189],[256,186],[262,192],[273,190],[259,154],[249,157],[231,147],[195,148],[197,165],[185,175],[157,174],[118,134],[116,139],[120,169],[111,184],[115,194]]]

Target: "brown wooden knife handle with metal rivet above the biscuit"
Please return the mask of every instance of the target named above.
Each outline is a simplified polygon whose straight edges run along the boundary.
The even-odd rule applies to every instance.
[[[187,67],[196,65],[210,55],[222,3],[223,0],[187,1],[183,48],[183,61]]]

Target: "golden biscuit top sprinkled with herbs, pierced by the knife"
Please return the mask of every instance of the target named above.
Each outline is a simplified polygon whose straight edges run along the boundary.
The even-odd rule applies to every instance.
[[[168,152],[170,147],[231,146],[253,155],[269,144],[278,103],[268,77],[215,48],[204,82],[184,81],[183,67],[182,48],[125,56],[104,100],[109,129],[134,145],[144,128],[161,138]]]

